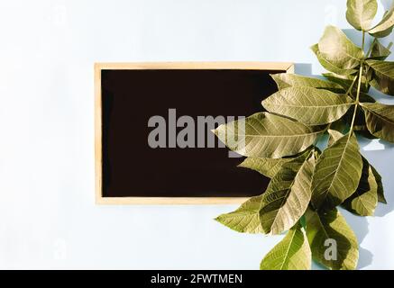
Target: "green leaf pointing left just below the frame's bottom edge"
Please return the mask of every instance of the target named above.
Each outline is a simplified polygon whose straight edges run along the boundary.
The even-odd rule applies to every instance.
[[[261,197],[262,195],[254,196],[248,201],[243,202],[237,210],[222,214],[215,220],[238,232],[262,233],[259,218]]]

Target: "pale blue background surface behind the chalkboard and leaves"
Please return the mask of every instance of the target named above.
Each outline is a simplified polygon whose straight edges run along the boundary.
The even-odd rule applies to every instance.
[[[292,61],[319,74],[308,47],[326,24],[350,29],[344,13],[344,0],[1,1],[0,268],[257,269],[281,236],[213,220],[236,206],[95,205],[93,65]],[[360,268],[393,269],[394,148],[362,141],[362,153],[389,205],[345,216]]]

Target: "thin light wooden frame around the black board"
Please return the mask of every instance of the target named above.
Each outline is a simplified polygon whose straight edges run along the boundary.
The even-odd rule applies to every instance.
[[[103,69],[247,69],[285,70],[294,73],[288,62],[152,62],[95,63],[95,189],[96,204],[239,204],[248,197],[103,197],[102,195],[102,113],[101,70]]]

